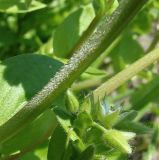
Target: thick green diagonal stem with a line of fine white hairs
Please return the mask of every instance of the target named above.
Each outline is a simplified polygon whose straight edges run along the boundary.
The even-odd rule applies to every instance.
[[[15,116],[0,127],[0,143],[33,121],[53,100],[64,92],[75,79],[114,41],[125,26],[148,0],[122,0],[111,15],[101,17],[94,32],[83,39],[73,51],[68,64],[50,79],[50,82],[33,97]]]

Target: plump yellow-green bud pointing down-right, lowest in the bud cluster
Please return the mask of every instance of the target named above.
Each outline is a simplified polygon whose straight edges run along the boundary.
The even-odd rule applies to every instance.
[[[128,144],[127,139],[122,132],[111,129],[104,134],[104,138],[110,146],[116,148],[122,153],[130,154],[132,152],[132,149]]]

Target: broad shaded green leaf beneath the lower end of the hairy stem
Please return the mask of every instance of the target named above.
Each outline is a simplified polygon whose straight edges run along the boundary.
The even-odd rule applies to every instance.
[[[29,149],[30,146],[37,145],[42,140],[47,139],[56,126],[55,115],[48,109],[18,134],[2,143],[0,153],[9,155],[19,151],[23,152]]]

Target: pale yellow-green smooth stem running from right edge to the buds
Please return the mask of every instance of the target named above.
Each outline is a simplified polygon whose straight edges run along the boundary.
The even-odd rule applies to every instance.
[[[132,53],[133,54],[133,53]],[[106,81],[100,87],[98,87],[94,92],[94,102],[97,103],[98,100],[104,98],[105,95],[108,95],[116,88],[121,86],[127,80],[135,76],[137,73],[148,67],[153,62],[159,60],[159,48],[153,50],[149,54],[145,55],[143,58],[140,58],[132,65],[128,66],[123,71],[116,74],[113,78]]]

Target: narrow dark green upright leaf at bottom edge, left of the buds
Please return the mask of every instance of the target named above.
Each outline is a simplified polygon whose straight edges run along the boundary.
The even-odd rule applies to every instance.
[[[48,149],[48,160],[62,160],[68,147],[68,135],[64,129],[58,125],[55,129]]]

